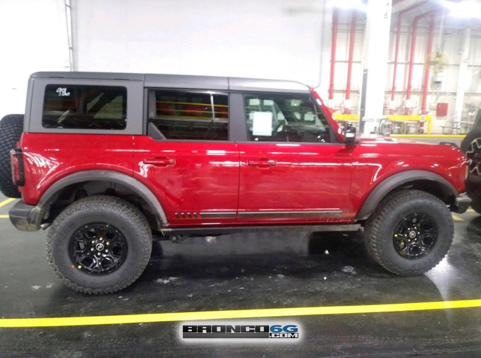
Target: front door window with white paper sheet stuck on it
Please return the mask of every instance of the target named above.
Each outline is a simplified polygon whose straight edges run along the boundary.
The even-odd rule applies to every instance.
[[[329,143],[331,129],[310,96],[245,94],[249,140]]]

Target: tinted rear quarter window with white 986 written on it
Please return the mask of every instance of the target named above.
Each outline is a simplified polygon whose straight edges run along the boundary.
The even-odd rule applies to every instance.
[[[125,129],[127,89],[115,86],[47,85],[44,128]]]

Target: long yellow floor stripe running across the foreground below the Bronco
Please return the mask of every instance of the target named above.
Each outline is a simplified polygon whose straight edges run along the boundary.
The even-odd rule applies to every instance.
[[[312,316],[377,312],[404,312],[429,309],[458,309],[481,307],[481,299],[459,301],[394,303],[361,306],[299,307],[284,309],[240,309],[230,311],[147,313],[118,316],[56,317],[56,318],[3,318],[0,327],[58,327],[99,324],[146,323],[219,320],[235,318]]]

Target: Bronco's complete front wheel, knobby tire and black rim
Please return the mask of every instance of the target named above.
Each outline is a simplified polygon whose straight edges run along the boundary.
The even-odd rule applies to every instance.
[[[367,219],[367,251],[398,275],[429,271],[446,256],[454,236],[451,212],[440,199],[419,190],[403,190],[380,203]]]

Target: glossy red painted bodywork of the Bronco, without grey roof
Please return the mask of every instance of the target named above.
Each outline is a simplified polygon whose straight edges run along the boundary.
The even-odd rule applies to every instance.
[[[167,227],[353,222],[377,185],[409,170],[437,173],[459,193],[465,188],[459,149],[372,135],[346,146],[26,133],[21,148],[25,203],[37,204],[66,175],[111,170],[150,188]]]

